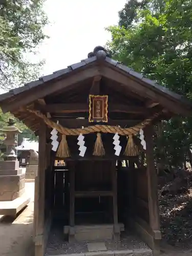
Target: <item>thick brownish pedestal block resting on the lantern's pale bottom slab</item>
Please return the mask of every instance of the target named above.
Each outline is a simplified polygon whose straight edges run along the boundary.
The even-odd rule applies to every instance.
[[[25,174],[0,176],[0,201],[13,201],[25,192]]]

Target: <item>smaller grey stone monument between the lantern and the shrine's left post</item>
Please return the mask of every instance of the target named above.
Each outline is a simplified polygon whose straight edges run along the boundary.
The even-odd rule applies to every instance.
[[[35,179],[38,171],[38,153],[34,150],[29,150],[30,158],[29,165],[26,166],[26,179]]]

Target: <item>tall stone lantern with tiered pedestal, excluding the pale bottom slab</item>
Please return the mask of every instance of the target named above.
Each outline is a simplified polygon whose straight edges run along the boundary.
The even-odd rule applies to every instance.
[[[19,161],[13,147],[16,144],[16,135],[20,133],[14,126],[14,120],[9,119],[8,125],[1,129],[6,134],[4,144],[7,146],[5,161],[0,161],[0,201],[12,201],[25,192],[25,173],[19,168]]]

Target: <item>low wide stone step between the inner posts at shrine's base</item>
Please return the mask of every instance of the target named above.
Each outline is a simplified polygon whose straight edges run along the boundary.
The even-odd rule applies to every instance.
[[[118,224],[119,232],[124,230],[122,223]],[[73,230],[72,230],[73,229]],[[72,232],[73,231],[73,232]],[[69,239],[75,241],[101,241],[113,240],[115,237],[114,225],[77,225],[74,227],[65,226],[64,233],[69,234]],[[70,241],[69,241],[70,242]]]

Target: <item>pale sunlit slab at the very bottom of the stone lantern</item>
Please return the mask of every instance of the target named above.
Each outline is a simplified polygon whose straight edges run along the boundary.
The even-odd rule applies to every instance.
[[[13,201],[0,202],[0,215],[15,216],[17,212],[22,210],[29,202],[30,198],[25,194]]]

